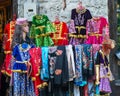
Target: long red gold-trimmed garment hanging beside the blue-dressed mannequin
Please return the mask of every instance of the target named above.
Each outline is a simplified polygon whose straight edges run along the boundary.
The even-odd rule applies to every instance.
[[[32,65],[31,77],[34,82],[35,94],[39,95],[39,88],[43,88],[47,85],[46,82],[40,79],[40,67],[41,67],[41,49],[31,48],[30,51],[30,63]]]

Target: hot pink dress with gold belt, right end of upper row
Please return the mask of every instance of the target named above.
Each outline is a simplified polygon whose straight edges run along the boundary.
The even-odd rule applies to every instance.
[[[101,44],[109,36],[108,22],[104,17],[93,17],[86,25],[87,44]]]

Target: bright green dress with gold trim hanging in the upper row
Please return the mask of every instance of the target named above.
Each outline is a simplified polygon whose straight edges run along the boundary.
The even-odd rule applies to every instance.
[[[33,16],[30,37],[34,40],[37,47],[51,46],[54,44],[50,37],[56,30],[46,15]]]

